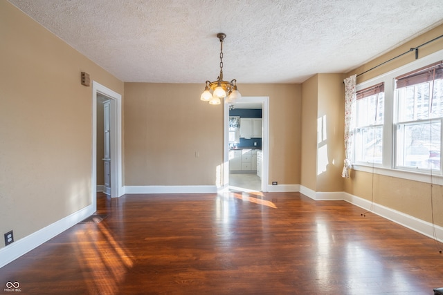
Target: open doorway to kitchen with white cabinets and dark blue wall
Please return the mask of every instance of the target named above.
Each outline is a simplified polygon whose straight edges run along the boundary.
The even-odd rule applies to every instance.
[[[269,97],[242,97],[224,108],[225,187],[267,191]]]

